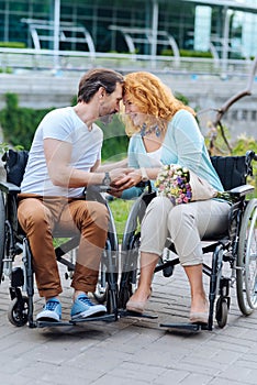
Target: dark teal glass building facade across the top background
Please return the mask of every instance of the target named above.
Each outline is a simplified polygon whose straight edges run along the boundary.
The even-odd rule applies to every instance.
[[[257,52],[257,0],[0,0],[0,44],[53,50],[56,12],[62,51],[159,55],[177,46],[221,56],[226,45],[232,58]]]

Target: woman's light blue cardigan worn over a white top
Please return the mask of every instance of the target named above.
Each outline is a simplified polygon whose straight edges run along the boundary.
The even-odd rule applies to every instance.
[[[156,167],[145,150],[139,133],[134,134],[128,144],[128,167]],[[204,178],[216,190],[223,191],[221,180],[211,163],[204,144],[204,138],[195,118],[187,110],[179,110],[168,123],[161,145],[160,165],[179,164],[188,167],[199,177]],[[142,194],[138,187],[132,187],[122,194],[123,199],[131,199]]]

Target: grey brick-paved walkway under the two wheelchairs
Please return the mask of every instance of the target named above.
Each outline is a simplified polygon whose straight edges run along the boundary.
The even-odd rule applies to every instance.
[[[224,329],[187,332],[159,328],[186,321],[189,287],[180,266],[153,283],[147,310],[158,319],[122,318],[76,327],[16,328],[7,318],[8,280],[0,286],[1,385],[244,385],[257,384],[257,311],[241,315],[235,289]],[[71,289],[62,295],[68,318]],[[43,301],[35,295],[35,311]]]

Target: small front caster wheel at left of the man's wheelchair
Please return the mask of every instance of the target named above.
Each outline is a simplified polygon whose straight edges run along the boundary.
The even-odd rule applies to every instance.
[[[8,319],[15,327],[23,327],[27,322],[29,298],[22,296],[22,300],[14,298],[8,310]]]

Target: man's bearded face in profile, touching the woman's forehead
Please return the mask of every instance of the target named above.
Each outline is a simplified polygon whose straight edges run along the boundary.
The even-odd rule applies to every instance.
[[[120,82],[116,82],[116,88],[112,94],[107,94],[104,90],[99,106],[99,117],[105,117],[104,121],[111,120],[112,114],[120,111],[122,95],[123,86]]]

